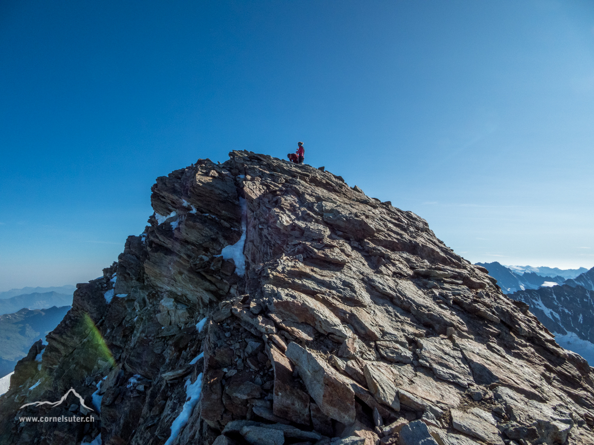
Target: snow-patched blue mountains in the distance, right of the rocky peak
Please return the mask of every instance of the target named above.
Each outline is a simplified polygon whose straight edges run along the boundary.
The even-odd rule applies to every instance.
[[[539,321],[554,333],[558,344],[594,365],[594,268],[589,271],[580,268],[586,271],[562,279],[561,275],[540,276],[536,272],[520,275],[498,262],[478,264],[497,279],[508,297],[526,303]]]

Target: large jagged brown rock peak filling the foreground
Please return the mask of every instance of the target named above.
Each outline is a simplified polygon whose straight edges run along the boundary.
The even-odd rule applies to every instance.
[[[415,214],[237,151],[160,177],[151,202],[42,365],[23,359],[2,444],[594,444],[590,367]],[[220,255],[244,227],[239,276]],[[95,422],[18,421],[77,412],[18,409],[70,387]]]

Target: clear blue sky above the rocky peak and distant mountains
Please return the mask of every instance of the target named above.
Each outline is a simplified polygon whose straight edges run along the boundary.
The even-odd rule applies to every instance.
[[[0,2],[0,291],[88,281],[230,150],[390,200],[472,262],[594,266],[590,1]]]

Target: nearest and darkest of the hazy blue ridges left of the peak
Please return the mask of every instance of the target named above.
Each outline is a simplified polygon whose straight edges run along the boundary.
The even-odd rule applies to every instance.
[[[45,339],[69,309],[70,306],[54,306],[0,315],[0,376],[11,373],[17,361],[27,355],[31,344]]]

